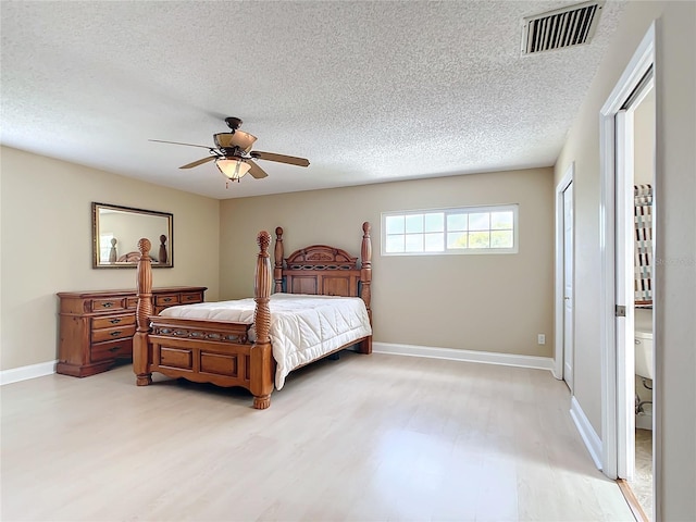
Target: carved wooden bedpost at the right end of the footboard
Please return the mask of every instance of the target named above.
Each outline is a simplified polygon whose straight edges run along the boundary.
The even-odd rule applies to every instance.
[[[277,231],[276,231],[277,232]],[[259,257],[257,258],[257,274],[253,288],[257,307],[253,313],[253,323],[257,328],[257,341],[250,350],[251,394],[253,394],[253,407],[264,410],[271,406],[271,391],[273,391],[273,353],[271,350],[271,310],[269,299],[273,278],[271,273],[271,259],[269,246],[271,235],[262,231],[257,237],[259,244]]]

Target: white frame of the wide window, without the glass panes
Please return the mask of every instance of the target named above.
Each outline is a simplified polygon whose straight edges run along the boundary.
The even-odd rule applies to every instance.
[[[501,254],[501,253],[518,253],[520,246],[520,222],[519,222],[519,208],[518,203],[506,204],[487,204],[487,206],[468,206],[468,207],[449,207],[444,209],[418,209],[418,210],[395,210],[389,212],[382,212],[382,240],[381,251],[382,256],[481,256],[481,254]],[[461,213],[482,213],[482,212],[509,212],[512,211],[512,247],[511,248],[447,248],[447,214],[461,214]],[[387,217],[393,216],[408,216],[414,214],[432,214],[444,213],[445,214],[445,249],[438,251],[403,251],[403,252],[387,252]],[[489,228],[490,229],[490,228]],[[425,232],[422,233],[423,235]]]

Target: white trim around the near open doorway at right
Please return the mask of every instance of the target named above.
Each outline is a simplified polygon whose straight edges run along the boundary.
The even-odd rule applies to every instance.
[[[599,249],[601,257],[599,327],[601,349],[601,433],[602,470],[609,478],[618,477],[618,398],[616,341],[616,122],[621,110],[641,79],[655,65],[655,23],[650,24],[621,78],[609,95],[599,116],[599,158],[601,195],[599,209]],[[623,372],[622,372],[623,373]],[[622,449],[625,452],[625,448]]]

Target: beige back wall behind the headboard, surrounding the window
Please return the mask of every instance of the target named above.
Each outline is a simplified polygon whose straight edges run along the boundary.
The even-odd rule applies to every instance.
[[[253,291],[260,229],[283,226],[286,254],[328,244],[359,256],[370,221],[375,341],[551,357],[552,175],[537,169],[222,201],[221,297]],[[518,254],[380,254],[381,212],[495,203],[520,204]]]

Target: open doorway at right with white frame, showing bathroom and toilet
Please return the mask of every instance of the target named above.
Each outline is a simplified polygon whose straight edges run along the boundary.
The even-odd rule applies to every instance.
[[[635,505],[632,507],[637,520],[650,520],[655,505],[652,437],[646,444],[636,436],[636,424],[652,427],[652,405],[651,399],[646,399],[646,391],[652,387],[655,366],[651,290],[656,282],[649,261],[657,239],[652,235],[651,209],[659,196],[655,190],[654,101],[655,100],[654,69],[651,26],[601,109],[602,471],[609,477],[623,480],[622,490]],[[642,266],[643,262],[647,264]],[[643,352],[647,339],[638,335],[641,330],[650,337],[649,353]],[[644,382],[646,390],[642,389]],[[643,396],[636,401],[637,383]],[[648,462],[641,460],[636,470],[636,450],[647,447]],[[649,483],[642,481],[638,486],[636,478],[645,478],[647,471]]]

